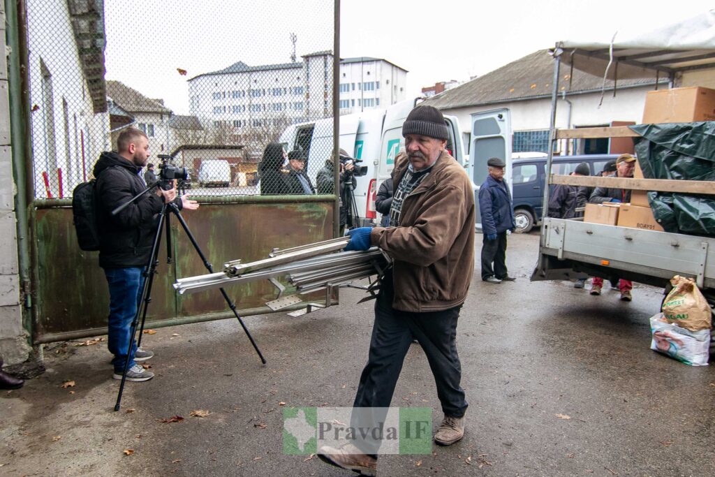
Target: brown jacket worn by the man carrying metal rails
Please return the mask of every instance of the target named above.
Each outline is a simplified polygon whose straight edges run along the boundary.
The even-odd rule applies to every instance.
[[[395,189],[409,161],[393,170]],[[464,303],[474,270],[474,190],[446,151],[428,177],[405,197],[400,227],[375,227],[370,242],[395,260],[393,308],[448,310]]]

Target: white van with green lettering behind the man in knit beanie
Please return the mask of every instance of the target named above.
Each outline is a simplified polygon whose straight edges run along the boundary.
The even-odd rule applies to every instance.
[[[388,109],[370,109],[340,116],[340,147],[361,160],[359,165],[368,166],[368,174],[356,177],[358,184],[354,191],[361,222],[376,222],[378,219],[375,212],[378,188],[390,177],[395,167],[395,156],[405,149],[402,126],[416,102],[416,99],[408,99]],[[446,115],[445,122],[450,135],[447,149],[466,167],[468,158],[464,154],[459,122],[456,117]],[[315,184],[317,172],[332,152],[332,118],[293,124],[285,129],[279,141],[288,151],[300,149],[308,152],[306,169]]]

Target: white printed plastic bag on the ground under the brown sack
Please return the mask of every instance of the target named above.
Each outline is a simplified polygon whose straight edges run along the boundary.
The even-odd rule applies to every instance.
[[[651,350],[690,366],[707,366],[710,330],[691,331],[668,323],[663,313],[651,316]]]

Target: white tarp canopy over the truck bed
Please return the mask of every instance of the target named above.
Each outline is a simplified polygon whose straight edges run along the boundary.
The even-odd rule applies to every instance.
[[[608,69],[607,79],[674,77],[679,72],[714,68],[715,10],[647,34],[559,41],[553,52],[561,54],[561,62],[583,72],[603,77]]]

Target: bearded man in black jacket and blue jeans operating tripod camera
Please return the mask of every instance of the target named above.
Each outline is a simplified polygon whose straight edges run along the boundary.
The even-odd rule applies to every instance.
[[[139,173],[149,159],[147,134],[132,127],[117,138],[117,152],[102,152],[94,165],[95,197],[97,197],[97,229],[99,230],[99,266],[104,269],[109,285],[109,333],[107,347],[114,355],[114,379],[122,379],[124,363],[129,353],[127,380],[147,381],[154,373],[144,370],[137,361],[145,361],[154,353],[136,343],[129,348],[129,328],[142,299],[144,267],[152,253],[157,229],[157,214],[164,204],[174,202],[180,209],[196,210],[198,202],[187,195],[177,197],[175,188],[146,192],[117,215],[119,207],[146,188]]]

